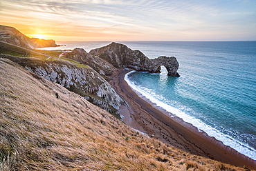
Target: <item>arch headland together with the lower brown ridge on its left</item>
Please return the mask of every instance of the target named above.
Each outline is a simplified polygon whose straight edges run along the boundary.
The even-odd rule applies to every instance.
[[[158,57],[149,59],[139,50],[131,50],[120,43],[111,43],[108,46],[91,50],[75,48],[63,54],[68,59],[73,59],[100,73],[105,78],[111,78],[113,72],[119,68],[158,73],[161,66],[165,66],[169,76],[179,77],[177,70],[179,63],[175,57]]]

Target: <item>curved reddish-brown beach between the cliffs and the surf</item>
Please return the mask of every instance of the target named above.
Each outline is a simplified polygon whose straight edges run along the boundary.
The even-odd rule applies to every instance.
[[[116,92],[129,105],[129,107],[125,105],[120,107],[120,114],[124,116],[123,121],[127,125],[185,152],[239,167],[246,165],[256,170],[255,160],[223,145],[221,141],[209,137],[204,132],[199,132],[194,126],[179,118],[168,117],[167,112],[140,98],[125,81],[127,72],[129,70],[120,70],[119,74],[110,81]]]

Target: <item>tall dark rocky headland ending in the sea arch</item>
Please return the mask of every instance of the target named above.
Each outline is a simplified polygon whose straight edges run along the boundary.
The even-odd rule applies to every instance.
[[[137,71],[158,73],[161,66],[165,66],[168,75],[179,77],[177,72],[179,63],[175,57],[149,59],[139,50],[131,50],[120,43],[111,43],[108,46],[91,50],[89,54],[108,61],[116,68],[131,68]]]

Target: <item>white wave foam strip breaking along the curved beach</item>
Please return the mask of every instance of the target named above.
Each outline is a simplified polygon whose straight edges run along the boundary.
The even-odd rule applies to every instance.
[[[230,137],[229,135],[219,132],[219,130],[217,130],[216,128],[212,128],[210,125],[203,123],[199,119],[191,117],[185,112],[182,112],[177,108],[174,108],[170,105],[167,105],[166,103],[163,103],[162,101],[159,101],[158,99],[161,99],[163,101],[167,101],[167,99],[159,96],[158,94],[155,94],[153,90],[136,86],[135,83],[130,81],[128,78],[129,74],[131,74],[132,72],[135,72],[135,71],[131,71],[125,75],[125,81],[127,81],[128,85],[132,89],[134,89],[136,92],[139,92],[143,97],[145,97],[146,99],[149,99],[149,101],[151,101],[152,103],[155,103],[158,107],[163,108],[167,112],[175,114],[176,117],[183,119],[183,121],[187,123],[191,123],[199,131],[203,130],[210,137],[214,137],[215,139],[222,141],[225,145],[228,145],[231,148],[237,150],[237,152],[240,152],[241,154],[244,154],[247,157],[250,157],[251,159],[256,160],[256,150],[251,148],[249,145],[246,145],[245,143],[241,143],[236,139]],[[170,116],[170,117],[173,117],[173,116]]]

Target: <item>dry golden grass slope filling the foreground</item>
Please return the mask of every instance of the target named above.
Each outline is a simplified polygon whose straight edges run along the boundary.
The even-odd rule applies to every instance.
[[[0,105],[0,170],[244,170],[150,139],[7,59]]]

